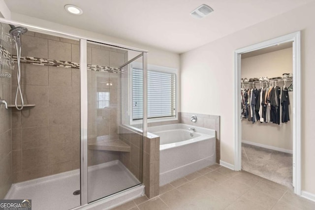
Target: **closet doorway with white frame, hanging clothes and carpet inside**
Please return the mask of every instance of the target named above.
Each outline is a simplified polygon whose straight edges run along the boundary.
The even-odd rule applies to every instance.
[[[235,51],[235,169],[300,195],[299,81],[300,32]]]

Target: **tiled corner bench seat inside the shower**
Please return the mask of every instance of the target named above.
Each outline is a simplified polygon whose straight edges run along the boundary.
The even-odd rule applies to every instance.
[[[100,141],[88,145],[89,150],[107,150],[107,151],[127,151],[130,152],[130,146],[120,139]]]

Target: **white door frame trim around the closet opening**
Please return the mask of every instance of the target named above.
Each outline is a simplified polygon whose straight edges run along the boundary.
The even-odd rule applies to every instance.
[[[234,169],[242,169],[241,55],[277,44],[292,42],[293,48],[293,186],[301,195],[301,31],[286,34],[234,51]]]

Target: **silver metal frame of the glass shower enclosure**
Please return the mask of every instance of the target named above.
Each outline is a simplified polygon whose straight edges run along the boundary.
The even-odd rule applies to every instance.
[[[11,24],[15,26],[20,27],[26,27],[28,29],[38,31],[41,33],[49,34],[49,35],[55,35],[59,37],[66,37],[66,38],[72,38],[77,39],[80,41],[80,189],[81,189],[81,195],[80,195],[80,206],[75,207],[75,209],[80,209],[83,206],[86,206],[88,204],[103,202],[107,197],[100,198],[99,200],[88,202],[88,138],[87,138],[87,131],[88,131],[88,81],[87,81],[87,41],[92,41],[96,43],[101,43],[113,47],[122,48],[125,50],[133,50],[137,51],[139,53],[142,53],[142,59],[143,59],[143,137],[147,136],[147,50],[128,47],[121,44],[116,44],[112,42],[107,42],[100,39],[95,39],[93,37],[86,37],[86,36],[80,36],[75,35],[73,33],[63,32],[60,30],[51,30],[46,29],[43,27],[34,26],[31,24],[25,24],[17,21],[7,20],[4,18],[0,18],[0,22],[4,24]],[[136,187],[136,186],[135,186]],[[134,187],[131,187],[127,190],[131,190]],[[118,193],[123,193],[126,190]],[[116,193],[117,194],[117,193]],[[108,197],[115,196],[111,195]]]

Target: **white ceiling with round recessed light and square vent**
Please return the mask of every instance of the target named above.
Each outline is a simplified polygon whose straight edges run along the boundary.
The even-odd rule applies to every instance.
[[[5,0],[11,12],[183,53],[314,0]],[[198,20],[201,4],[214,12]],[[82,8],[80,16],[63,6]]]

